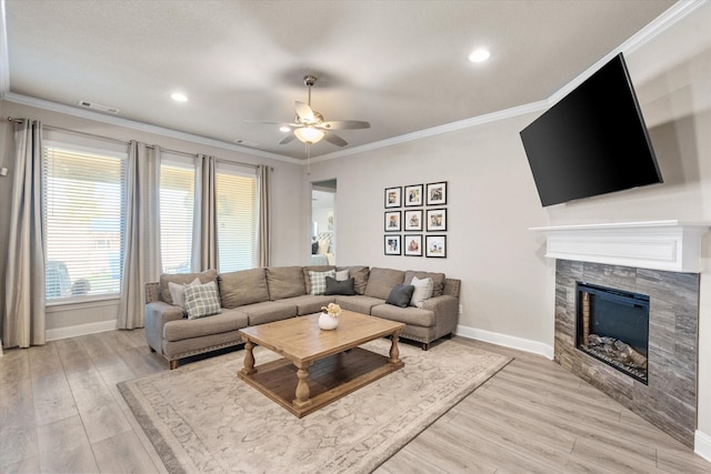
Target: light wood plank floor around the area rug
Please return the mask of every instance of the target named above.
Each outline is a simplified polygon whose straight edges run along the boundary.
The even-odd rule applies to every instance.
[[[460,341],[515,360],[377,474],[711,473],[711,463],[555,363]],[[116,387],[166,370],[142,330],[6,351],[0,473],[166,472]]]

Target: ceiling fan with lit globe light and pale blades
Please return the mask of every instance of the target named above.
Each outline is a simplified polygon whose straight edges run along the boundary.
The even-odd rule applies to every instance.
[[[257,122],[278,124],[284,129],[289,129],[291,133],[284,137],[279,144],[286,144],[298,139],[307,144],[313,144],[321,140],[326,140],[334,145],[346,147],[348,142],[333,133],[333,130],[357,130],[370,128],[370,123],[360,120],[323,120],[323,115],[311,109],[311,88],[316,84],[316,75],[308,74],[303,77],[303,83],[309,88],[309,102],[294,102],[297,115],[293,123]]]

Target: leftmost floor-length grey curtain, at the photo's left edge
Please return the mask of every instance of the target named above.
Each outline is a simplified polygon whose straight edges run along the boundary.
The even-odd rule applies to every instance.
[[[16,123],[14,144],[2,340],[6,347],[29,347],[44,344],[46,324],[41,123]]]

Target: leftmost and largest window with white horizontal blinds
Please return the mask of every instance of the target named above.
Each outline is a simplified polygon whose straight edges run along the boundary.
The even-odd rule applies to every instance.
[[[47,299],[118,295],[126,145],[57,138],[43,150]]]

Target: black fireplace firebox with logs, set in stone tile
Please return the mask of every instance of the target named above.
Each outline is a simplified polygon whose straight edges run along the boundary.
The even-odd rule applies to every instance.
[[[648,384],[649,296],[577,282],[575,347]]]

